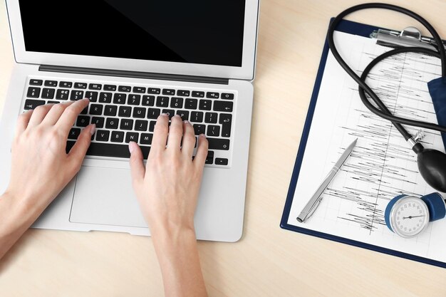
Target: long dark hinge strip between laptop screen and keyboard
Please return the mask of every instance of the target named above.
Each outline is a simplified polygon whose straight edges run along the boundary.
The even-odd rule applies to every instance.
[[[221,85],[229,84],[228,78],[209,78],[206,76],[176,75],[176,74],[150,73],[150,72],[140,72],[140,71],[120,71],[120,70],[112,70],[112,69],[51,66],[51,65],[41,65],[41,66],[39,66],[38,70],[39,71],[62,72],[62,73],[78,73],[78,74],[88,74],[88,75],[120,76],[120,77],[125,77],[125,78],[176,80],[176,81],[187,81],[187,82],[193,82],[193,83],[218,83]]]

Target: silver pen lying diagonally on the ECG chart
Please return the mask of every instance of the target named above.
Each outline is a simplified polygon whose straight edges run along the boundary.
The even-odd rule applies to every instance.
[[[307,219],[311,217],[311,215],[314,213],[316,208],[318,208],[319,204],[321,203],[322,197],[321,194],[323,191],[325,191],[326,187],[328,187],[328,184],[330,184],[331,179],[335,177],[336,173],[338,173],[339,168],[346,162],[348,156],[353,152],[353,147],[356,145],[356,141],[358,141],[358,138],[356,138],[355,141],[351,142],[351,145],[348,145],[346,150],[343,152],[341,157],[338,159],[336,164],[333,166],[333,168],[328,172],[328,175],[325,179],[323,179],[322,184],[318,187],[316,192],[314,192],[313,196],[311,197],[310,201],[306,204],[304,209],[302,209],[301,214],[296,218],[299,223],[304,223]]]

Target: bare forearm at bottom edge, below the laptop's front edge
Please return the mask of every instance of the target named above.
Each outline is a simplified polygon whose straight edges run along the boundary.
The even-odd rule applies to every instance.
[[[165,296],[207,296],[193,230],[157,232],[153,244],[164,282]]]

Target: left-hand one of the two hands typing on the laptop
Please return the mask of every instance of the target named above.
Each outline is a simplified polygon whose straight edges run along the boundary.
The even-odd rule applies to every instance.
[[[95,125],[85,127],[66,154],[68,132],[88,99],[38,106],[19,116],[6,193],[36,212],[50,204],[81,169]]]

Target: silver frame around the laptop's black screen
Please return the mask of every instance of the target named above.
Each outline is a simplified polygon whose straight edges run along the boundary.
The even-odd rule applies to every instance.
[[[19,0],[6,0],[6,10],[9,17],[14,57],[17,63],[194,75],[213,78],[254,79],[259,0],[246,0],[241,67],[26,51]]]

